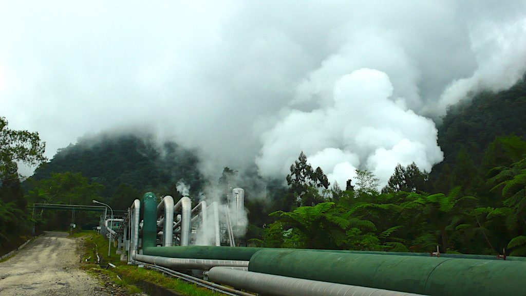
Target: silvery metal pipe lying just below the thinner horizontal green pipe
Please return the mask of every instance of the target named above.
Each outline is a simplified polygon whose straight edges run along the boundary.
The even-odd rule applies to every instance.
[[[242,267],[248,268],[248,261],[237,260],[209,260],[209,259],[186,259],[186,258],[168,258],[160,256],[136,255],[135,260],[159,265],[169,269],[186,270],[199,269],[209,270],[213,267]]]

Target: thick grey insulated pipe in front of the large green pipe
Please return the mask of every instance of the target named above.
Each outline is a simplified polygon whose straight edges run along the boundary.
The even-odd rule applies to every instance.
[[[281,277],[280,275],[214,267],[205,273],[213,282],[265,296],[418,296],[420,294],[359,287],[356,285]]]

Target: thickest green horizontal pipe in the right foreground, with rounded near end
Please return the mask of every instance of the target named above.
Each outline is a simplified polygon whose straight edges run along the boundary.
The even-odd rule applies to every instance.
[[[526,295],[521,261],[261,250],[248,270],[424,295]]]

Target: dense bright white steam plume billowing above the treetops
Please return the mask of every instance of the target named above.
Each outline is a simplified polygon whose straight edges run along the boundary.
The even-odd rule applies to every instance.
[[[263,136],[257,164],[262,174],[286,174],[298,151],[321,166],[329,181],[345,182],[358,167],[375,173],[385,185],[397,163],[415,162],[429,171],[442,160],[434,123],[392,98],[387,74],[363,68],[343,75],[321,91],[332,102],[302,112],[291,110]]]

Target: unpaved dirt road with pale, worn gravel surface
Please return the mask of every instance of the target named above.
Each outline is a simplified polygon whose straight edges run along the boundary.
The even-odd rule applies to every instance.
[[[0,295],[109,295],[77,268],[79,242],[66,236],[46,232],[0,263]]]

